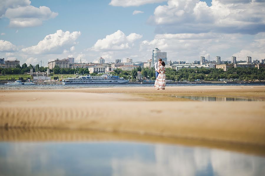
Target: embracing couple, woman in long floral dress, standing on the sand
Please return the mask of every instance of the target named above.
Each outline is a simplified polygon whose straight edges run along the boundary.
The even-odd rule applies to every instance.
[[[165,90],[165,62],[159,59],[155,62],[155,88]]]

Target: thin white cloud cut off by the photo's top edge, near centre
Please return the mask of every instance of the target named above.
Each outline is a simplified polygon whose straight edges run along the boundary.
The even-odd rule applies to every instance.
[[[160,3],[166,0],[111,0],[109,5],[112,6],[122,6],[122,7],[129,7],[129,6],[141,6],[144,4],[153,4],[153,3]]]

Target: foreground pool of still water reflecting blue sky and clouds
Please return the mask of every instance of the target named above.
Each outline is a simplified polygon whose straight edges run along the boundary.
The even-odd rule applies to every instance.
[[[0,142],[0,175],[263,175],[265,158],[139,143]]]

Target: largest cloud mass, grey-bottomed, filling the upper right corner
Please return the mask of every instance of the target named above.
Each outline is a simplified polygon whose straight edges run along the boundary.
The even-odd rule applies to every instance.
[[[212,0],[212,6],[199,0],[169,0],[158,6],[150,24],[157,33],[243,33],[265,31],[264,1]]]

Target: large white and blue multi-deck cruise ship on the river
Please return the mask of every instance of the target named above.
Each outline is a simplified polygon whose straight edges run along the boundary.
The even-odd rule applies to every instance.
[[[65,78],[62,80],[62,84],[127,84],[129,81],[123,77],[112,76],[104,74],[102,76],[77,76],[72,78]]]

